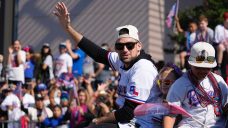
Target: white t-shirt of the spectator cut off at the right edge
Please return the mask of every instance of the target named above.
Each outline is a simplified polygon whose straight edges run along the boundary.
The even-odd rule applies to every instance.
[[[225,40],[228,40],[228,29],[223,25],[217,25],[215,27],[215,43],[219,44]]]

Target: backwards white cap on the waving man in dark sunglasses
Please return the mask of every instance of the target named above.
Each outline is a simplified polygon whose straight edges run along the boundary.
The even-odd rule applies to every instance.
[[[116,28],[116,31],[118,36],[117,39],[122,37],[131,37],[139,41],[138,29],[133,25],[125,25],[125,26],[118,27]]]

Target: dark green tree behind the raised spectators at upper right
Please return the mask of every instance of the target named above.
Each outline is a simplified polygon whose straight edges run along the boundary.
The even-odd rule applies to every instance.
[[[218,24],[222,24],[223,13],[226,11],[228,11],[228,0],[204,0],[203,5],[181,11],[178,17],[184,30],[188,29],[188,23],[190,21],[197,22],[200,15],[205,15],[208,18],[209,27],[214,29]],[[164,51],[178,53],[185,46],[185,36],[183,33],[177,34],[172,32],[168,36],[176,44],[174,45],[174,49],[164,49]]]

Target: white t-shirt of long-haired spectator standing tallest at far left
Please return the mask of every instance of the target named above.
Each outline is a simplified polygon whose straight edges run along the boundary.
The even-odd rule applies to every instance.
[[[20,55],[21,60],[23,62],[20,65],[16,64],[17,54]],[[24,81],[25,81],[25,78],[24,78],[25,61],[26,61],[26,53],[24,51],[20,50],[18,53],[12,54],[11,64],[8,65],[8,68],[9,68],[8,78],[9,78],[9,80],[21,81],[22,83],[24,83]]]

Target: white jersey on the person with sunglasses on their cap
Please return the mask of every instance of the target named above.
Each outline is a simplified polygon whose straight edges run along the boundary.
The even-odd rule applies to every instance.
[[[227,103],[228,88],[222,77],[213,74],[217,80],[222,93],[222,106]],[[213,86],[208,77],[200,82],[200,85],[204,90],[212,96],[214,94]],[[194,91],[194,86],[188,78],[188,74],[185,73],[181,78],[175,81],[171,86],[169,93],[167,95],[167,101],[184,108],[188,113],[193,115],[193,117],[199,120],[201,123],[205,124],[208,128],[216,127],[222,128],[225,126],[225,118],[223,116],[216,117],[214,113],[214,107],[208,105],[207,107],[202,107],[197,99],[196,93]],[[179,127],[183,128],[200,128],[203,127],[201,124],[197,123],[192,118],[183,117],[181,122],[178,124]]]

